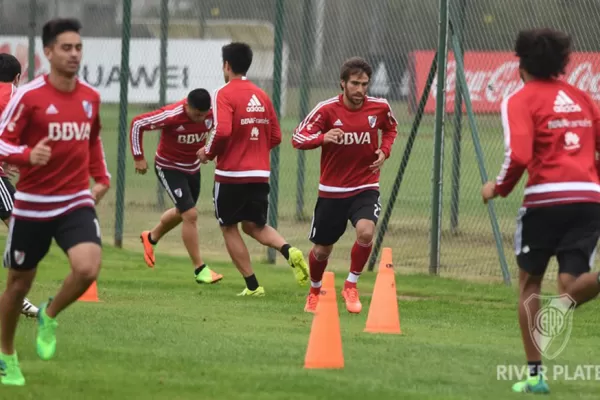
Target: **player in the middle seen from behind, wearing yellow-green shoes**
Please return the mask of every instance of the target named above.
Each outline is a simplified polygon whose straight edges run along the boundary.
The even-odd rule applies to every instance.
[[[281,143],[281,130],[267,94],[246,78],[252,49],[234,42],[223,46],[222,56],[226,84],[213,95],[214,132],[198,151],[198,158],[203,163],[217,158],[215,216],[227,251],[246,281],[239,295],[264,296],[238,223],[244,233],[262,245],[279,250],[294,268],[300,285],[308,281],[308,267],[302,252],[267,225],[270,151]]]

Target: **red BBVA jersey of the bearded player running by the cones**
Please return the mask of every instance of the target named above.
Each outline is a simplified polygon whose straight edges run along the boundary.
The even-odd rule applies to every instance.
[[[367,96],[361,108],[351,110],[340,94],[317,104],[296,128],[292,144],[300,150],[321,146],[320,197],[350,197],[379,190],[380,172],[369,166],[377,160],[377,149],[390,157],[397,125],[387,100]],[[334,128],[344,131],[343,138],[323,144],[325,134]]]

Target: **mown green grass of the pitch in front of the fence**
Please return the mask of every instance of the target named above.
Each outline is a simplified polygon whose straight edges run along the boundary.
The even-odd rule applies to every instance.
[[[55,359],[37,358],[35,322],[21,320],[17,349],[27,386],[0,386],[0,398],[517,398],[512,381],[496,375],[497,365],[525,361],[514,289],[397,274],[403,334],[374,335],[363,329],[375,274],[363,274],[363,312],[350,315],[339,295],[347,270],[339,271],[345,368],[305,370],[312,316],[303,312],[306,289],[296,286],[289,268],[257,264],[267,296],[240,299],[243,280],[228,264],[213,264],[225,275],[221,283],[199,286],[186,259],[161,251],[154,270],[127,250],[106,247],[103,260],[101,302],[77,303],[59,316]],[[53,295],[67,271],[54,246],[30,298],[39,304]],[[595,363],[590,349],[597,345],[599,311],[592,302],[576,312],[572,338],[550,364]],[[597,398],[597,382],[550,385],[553,398]]]

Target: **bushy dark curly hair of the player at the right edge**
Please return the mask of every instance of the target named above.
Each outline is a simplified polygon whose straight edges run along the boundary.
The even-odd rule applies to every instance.
[[[519,66],[539,79],[556,78],[565,73],[571,56],[571,36],[549,28],[519,32],[515,52]]]

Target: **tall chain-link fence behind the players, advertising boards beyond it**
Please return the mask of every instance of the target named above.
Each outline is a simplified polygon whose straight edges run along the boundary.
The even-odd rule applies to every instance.
[[[450,0],[449,4],[451,25],[464,50],[465,76],[484,167],[493,179],[504,156],[500,102],[520,83],[512,54],[517,32],[540,26],[570,32],[577,53],[566,79],[600,100],[600,26],[592,23],[600,17],[600,5],[595,0]],[[140,232],[158,221],[162,211],[170,207],[170,200],[158,189],[153,174],[134,174],[127,147],[123,207],[117,202],[124,15],[129,13],[123,13],[121,0],[0,0],[0,51],[16,54],[24,68],[36,75],[47,70],[39,38],[43,22],[55,16],[74,16],[82,21],[85,41],[81,75],[102,94],[105,151],[115,180],[113,190],[99,209],[104,236],[113,241],[115,227],[118,228],[116,216],[122,212],[123,246],[140,249]],[[193,88],[214,90],[223,83],[221,46],[230,41],[249,43],[255,54],[249,78],[271,94],[278,84],[281,89],[284,141],[273,178],[277,179],[278,207],[276,215],[271,210],[271,221],[276,221],[290,243],[308,250],[320,152],[294,150],[290,142],[292,130],[318,101],[339,92],[339,67],[345,59],[362,56],[369,60],[374,68],[370,94],[386,97],[399,121],[399,136],[381,179],[381,201],[385,207],[438,48],[439,21],[438,0],[132,0],[127,63],[130,76],[124,107],[127,122],[138,113],[158,107],[161,101],[185,97]],[[33,38],[32,35],[33,52],[28,51],[28,37]],[[161,37],[165,46],[161,46]],[[452,41],[448,43],[451,50]],[[161,54],[166,54],[164,63]],[[443,170],[439,273],[498,279],[502,277],[499,254],[488,210],[480,200],[481,176],[472,130],[466,112],[454,112],[455,100],[463,100],[461,96],[457,98],[456,65],[450,52],[447,115],[440,147]],[[280,79],[276,74],[279,71]],[[404,271],[427,272],[436,258],[430,253],[432,238],[436,237],[431,234],[432,215],[439,209],[432,204],[436,82],[437,79],[382,242],[393,248],[394,261]],[[463,110],[466,111],[464,106]],[[146,134],[147,154],[153,153],[158,134]],[[213,171],[212,165],[202,167],[202,192],[197,207],[201,246],[207,258],[228,260],[213,216]],[[509,199],[495,202],[501,248],[512,275],[512,235],[522,186]],[[160,243],[159,263],[162,253],[185,252],[179,232],[174,230]],[[333,268],[345,269],[349,265],[354,239],[349,229],[334,250],[330,263]],[[247,244],[255,260],[266,257],[262,246],[251,240]]]

